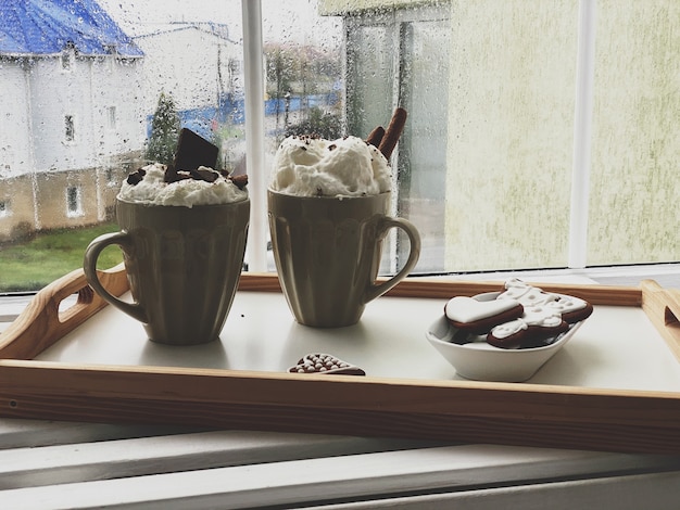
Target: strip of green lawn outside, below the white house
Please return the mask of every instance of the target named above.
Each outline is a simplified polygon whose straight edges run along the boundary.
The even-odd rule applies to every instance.
[[[96,237],[115,232],[115,222],[63,229],[37,234],[34,239],[0,246],[0,292],[34,291],[83,267],[85,248]],[[104,248],[98,267],[108,269],[123,260],[121,250]]]

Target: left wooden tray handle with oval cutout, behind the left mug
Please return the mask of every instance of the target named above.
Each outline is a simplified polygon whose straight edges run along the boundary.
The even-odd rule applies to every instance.
[[[129,289],[123,264],[99,271],[99,278],[116,296]],[[76,303],[60,309],[62,302],[74,294],[77,294]],[[0,334],[0,358],[33,359],[104,306],[106,302],[87,283],[83,269],[76,269],[40,290]],[[22,341],[15,342],[20,336]]]

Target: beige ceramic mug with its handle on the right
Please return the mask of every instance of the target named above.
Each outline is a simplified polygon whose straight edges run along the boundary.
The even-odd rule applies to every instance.
[[[267,192],[272,247],[295,320],[319,328],[356,323],[366,304],[415,267],[420,237],[405,219],[388,216],[390,193],[356,197],[293,196]],[[404,267],[376,281],[382,241],[392,228],[408,235]]]

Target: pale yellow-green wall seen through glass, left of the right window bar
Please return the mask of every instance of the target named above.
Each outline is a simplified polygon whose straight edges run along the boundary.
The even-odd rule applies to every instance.
[[[450,270],[567,266],[578,4],[455,2]]]

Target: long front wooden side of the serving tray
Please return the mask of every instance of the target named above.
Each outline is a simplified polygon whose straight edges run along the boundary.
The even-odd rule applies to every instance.
[[[680,395],[663,392],[3,360],[0,401],[4,417],[680,454]]]

